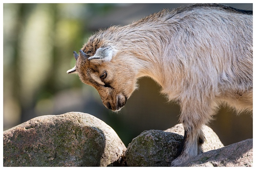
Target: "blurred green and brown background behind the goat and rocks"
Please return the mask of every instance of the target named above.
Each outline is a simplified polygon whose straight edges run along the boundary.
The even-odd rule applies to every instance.
[[[4,4],[4,130],[37,116],[79,111],[109,124],[127,146],[144,130],[177,124],[179,106],[168,103],[149,78],[139,80],[139,90],[115,113],[93,87],[66,71],[74,67],[73,51],[99,28],[181,5],[186,4]],[[227,5],[252,10],[252,4]],[[210,127],[224,145],[252,138],[252,116],[237,116],[225,107]]]

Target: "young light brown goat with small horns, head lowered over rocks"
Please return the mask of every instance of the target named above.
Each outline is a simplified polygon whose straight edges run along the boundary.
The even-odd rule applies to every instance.
[[[221,103],[252,110],[252,11],[219,4],[163,10],[127,26],[90,37],[76,65],[83,83],[95,87],[103,104],[120,110],[149,76],[181,107],[185,134],[177,166],[201,153],[201,127]]]

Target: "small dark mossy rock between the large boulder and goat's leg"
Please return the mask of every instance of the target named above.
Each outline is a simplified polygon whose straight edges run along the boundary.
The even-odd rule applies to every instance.
[[[148,130],[134,138],[125,152],[127,166],[170,166],[183,136]]]

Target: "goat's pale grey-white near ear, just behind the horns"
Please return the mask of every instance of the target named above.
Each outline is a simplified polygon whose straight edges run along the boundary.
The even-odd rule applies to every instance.
[[[95,63],[110,62],[117,50],[111,47],[100,47],[96,50],[95,55],[88,58],[89,61]]]

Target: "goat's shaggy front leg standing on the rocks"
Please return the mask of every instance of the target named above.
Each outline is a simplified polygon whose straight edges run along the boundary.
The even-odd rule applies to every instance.
[[[204,124],[210,121],[213,114],[213,102],[196,102],[193,100],[193,102],[181,104],[180,122],[184,126],[184,139],[177,158],[172,161],[172,166],[178,166],[202,153],[204,134],[201,129]]]

